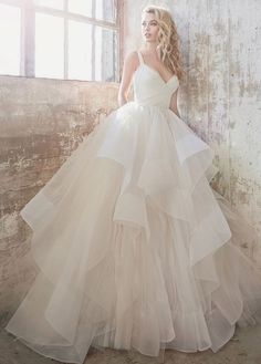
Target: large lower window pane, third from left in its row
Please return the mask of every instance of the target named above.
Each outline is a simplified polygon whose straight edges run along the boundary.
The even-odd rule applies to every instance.
[[[92,25],[69,21],[69,79],[92,80]]]

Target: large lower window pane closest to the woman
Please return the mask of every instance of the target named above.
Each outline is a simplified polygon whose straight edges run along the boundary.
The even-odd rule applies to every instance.
[[[117,33],[95,28],[95,80],[117,81]]]

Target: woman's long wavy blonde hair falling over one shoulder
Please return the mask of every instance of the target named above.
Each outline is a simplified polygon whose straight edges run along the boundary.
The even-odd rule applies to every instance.
[[[186,75],[186,72],[182,67],[181,54],[179,51],[180,38],[170,12],[161,7],[147,6],[143,9],[142,14],[145,13],[153,13],[158,22],[160,60],[171,73],[175,73],[178,79],[181,80]]]

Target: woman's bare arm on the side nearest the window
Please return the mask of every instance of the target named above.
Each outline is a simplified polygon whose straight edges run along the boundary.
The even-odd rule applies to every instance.
[[[118,90],[118,105],[123,106],[127,103],[133,74],[138,66],[138,56],[136,52],[130,52],[124,60],[123,76]]]

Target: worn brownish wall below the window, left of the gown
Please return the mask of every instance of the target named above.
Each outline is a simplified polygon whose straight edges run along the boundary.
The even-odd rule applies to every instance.
[[[116,83],[0,77],[0,312],[34,279],[21,208],[117,107]]]

